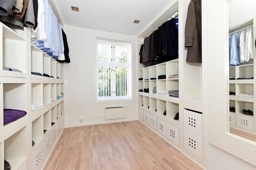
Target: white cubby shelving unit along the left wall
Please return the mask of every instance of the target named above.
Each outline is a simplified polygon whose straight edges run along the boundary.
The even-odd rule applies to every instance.
[[[30,34],[30,29],[18,34],[0,23],[1,170],[4,159],[12,170],[41,170],[64,128],[65,97],[56,100],[57,95],[64,94],[64,66],[32,45]],[[22,73],[3,70],[3,67]],[[32,104],[42,104],[42,107],[31,111]],[[3,125],[3,109],[18,109],[27,114]]]

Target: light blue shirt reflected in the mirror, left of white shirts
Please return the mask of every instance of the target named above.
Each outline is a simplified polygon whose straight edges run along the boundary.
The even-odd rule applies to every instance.
[[[230,66],[237,66],[240,64],[240,42],[239,34],[235,33],[232,36],[231,50],[230,50]]]

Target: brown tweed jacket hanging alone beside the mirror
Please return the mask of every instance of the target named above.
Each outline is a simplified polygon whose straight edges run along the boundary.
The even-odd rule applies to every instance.
[[[201,0],[191,0],[185,27],[186,62],[202,63],[202,11]]]

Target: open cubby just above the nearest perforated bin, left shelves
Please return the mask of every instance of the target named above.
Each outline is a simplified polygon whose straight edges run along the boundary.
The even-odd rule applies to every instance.
[[[36,147],[44,138],[44,116],[40,116],[32,122],[32,140],[35,142],[33,147]],[[31,141],[32,145],[32,141]]]

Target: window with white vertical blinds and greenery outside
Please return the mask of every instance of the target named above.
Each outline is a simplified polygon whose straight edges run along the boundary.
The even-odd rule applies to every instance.
[[[131,99],[131,45],[96,40],[97,100]]]

